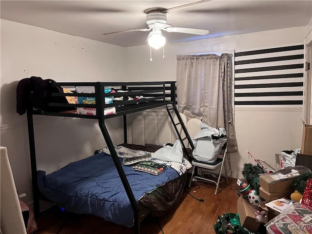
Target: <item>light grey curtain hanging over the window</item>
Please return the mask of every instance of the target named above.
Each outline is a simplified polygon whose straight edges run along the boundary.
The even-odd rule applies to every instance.
[[[225,128],[228,152],[237,152],[232,108],[230,54],[177,56],[179,112],[214,128]]]

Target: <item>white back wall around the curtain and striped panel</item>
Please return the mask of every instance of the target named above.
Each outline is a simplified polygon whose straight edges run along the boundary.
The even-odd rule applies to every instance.
[[[167,43],[165,58],[162,50],[153,50],[149,58],[148,46],[126,48],[127,81],[176,80],[176,55],[215,51],[235,52],[303,44],[306,27],[257,32],[237,36],[202,39],[192,42]],[[241,176],[244,163],[253,163],[253,156],[275,166],[275,153],[299,148],[302,137],[302,108],[296,109],[236,109],[235,129],[239,152],[231,154],[234,177]]]

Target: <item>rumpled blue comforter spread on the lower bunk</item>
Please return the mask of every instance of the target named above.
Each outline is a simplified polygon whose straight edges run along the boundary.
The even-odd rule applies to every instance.
[[[137,201],[178,177],[172,168],[154,176],[134,171],[132,166],[122,167]],[[38,185],[43,195],[67,211],[98,215],[128,227],[134,224],[133,209],[110,155],[96,154],[49,175],[38,171]]]

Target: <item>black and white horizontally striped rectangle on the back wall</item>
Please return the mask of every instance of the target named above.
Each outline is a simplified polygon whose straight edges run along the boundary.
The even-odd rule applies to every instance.
[[[302,105],[304,46],[235,53],[235,105]]]

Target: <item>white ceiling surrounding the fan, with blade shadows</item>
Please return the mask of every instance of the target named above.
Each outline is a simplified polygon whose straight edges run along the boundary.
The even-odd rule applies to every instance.
[[[128,47],[147,44],[144,10],[173,8],[198,0],[1,0],[1,19]],[[273,29],[307,26],[312,0],[204,0],[169,10],[174,27],[207,29],[208,35],[163,32],[167,42],[216,38]]]

